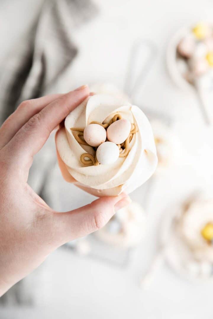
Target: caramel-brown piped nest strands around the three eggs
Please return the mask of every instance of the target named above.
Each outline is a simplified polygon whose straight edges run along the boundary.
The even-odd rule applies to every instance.
[[[99,124],[101,126],[104,127],[104,129],[107,129],[113,122],[116,122],[118,120],[122,120],[122,116],[120,114],[115,114],[112,119],[110,120],[109,123],[101,123],[101,122],[97,122],[97,121],[93,121],[91,122],[90,124]],[[83,128],[70,128],[70,130],[72,131],[77,131],[76,134],[73,134],[76,141],[79,143],[79,144],[82,144],[82,145],[87,145],[87,146],[90,146],[87,144],[87,142],[80,138],[80,137],[83,137],[83,132],[84,132],[84,129]],[[133,135],[138,131],[138,127],[136,125],[136,123],[132,123],[131,124],[131,131],[129,133],[129,136],[127,137],[127,139],[122,143],[122,144],[118,144],[118,148],[119,148],[119,152],[120,152],[120,155],[119,157],[125,157],[129,154],[129,144],[130,142],[132,141],[133,139]],[[107,139],[106,139],[107,141]],[[95,151],[97,150],[97,147],[94,148]],[[88,157],[89,159],[85,159],[86,157]],[[80,156],[80,161],[82,164],[84,164],[85,167],[87,166],[97,166],[99,165],[100,163],[98,162],[97,158],[96,158],[96,154],[95,156],[93,156],[92,154],[89,154],[89,153],[83,153],[81,156]]]

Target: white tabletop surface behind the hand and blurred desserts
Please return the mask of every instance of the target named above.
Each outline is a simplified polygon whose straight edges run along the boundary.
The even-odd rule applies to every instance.
[[[80,53],[73,63],[70,88],[98,81],[124,85],[129,49],[138,38],[152,39],[158,56],[145,85],[136,97],[139,105],[171,115],[185,156],[179,165],[156,176],[149,196],[148,235],[134,254],[128,269],[118,269],[58,249],[37,270],[32,285],[36,308],[0,309],[2,319],[19,318],[212,318],[212,282],[192,283],[162,266],[147,290],[138,286],[158,244],[161,215],[174,201],[194,189],[213,190],[212,129],[203,125],[194,96],[181,92],[171,82],[165,66],[165,50],[173,32],[212,16],[210,0],[157,1],[96,0],[100,14],[73,33]],[[41,1],[37,1],[39,7]],[[33,0],[0,4],[0,59],[11,48],[35,13]],[[26,7],[26,11],[20,7]],[[4,15],[1,9],[4,7]],[[2,11],[3,12],[3,11]],[[211,136],[210,136],[211,135]],[[92,197],[67,185],[57,194],[64,209],[72,209]],[[132,194],[141,201],[142,189]],[[56,207],[57,208],[57,207]]]

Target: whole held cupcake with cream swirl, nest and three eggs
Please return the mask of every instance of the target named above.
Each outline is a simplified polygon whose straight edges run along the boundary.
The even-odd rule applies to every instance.
[[[151,125],[123,96],[90,96],[57,131],[59,167],[67,182],[97,197],[132,192],[157,166]]]

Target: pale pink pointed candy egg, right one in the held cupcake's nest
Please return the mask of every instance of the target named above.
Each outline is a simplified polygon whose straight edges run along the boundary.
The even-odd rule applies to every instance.
[[[107,138],[115,144],[123,143],[131,131],[131,123],[122,119],[112,123],[107,129]]]

